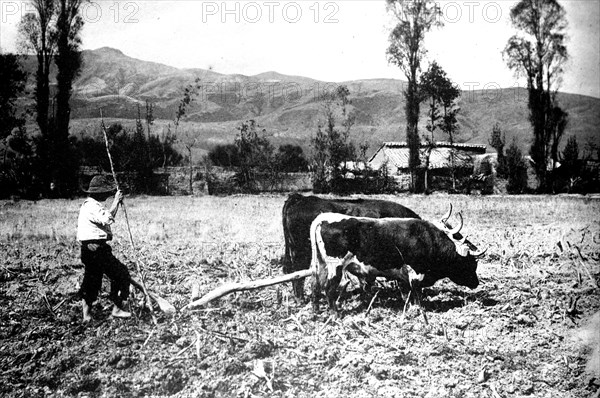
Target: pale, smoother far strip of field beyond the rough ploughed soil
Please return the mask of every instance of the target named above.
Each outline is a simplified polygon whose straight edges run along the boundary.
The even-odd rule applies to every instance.
[[[207,242],[283,243],[281,209],[286,195],[229,197],[134,197],[126,199],[133,235],[141,243]],[[500,246],[495,233],[528,231],[547,249],[564,229],[600,231],[600,200],[583,196],[464,196],[376,195],[406,205],[423,218],[438,219],[454,205],[462,211],[468,234]],[[74,239],[82,200],[4,202],[0,237],[55,237]],[[116,239],[126,244],[123,214],[113,227]],[[482,233],[483,232],[483,233]],[[477,240],[477,238],[474,238]],[[513,244],[520,245],[522,240]],[[519,247],[525,250],[525,247]]]

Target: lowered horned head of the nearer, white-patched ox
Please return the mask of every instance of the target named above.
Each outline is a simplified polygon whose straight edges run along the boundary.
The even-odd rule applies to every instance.
[[[460,234],[463,227],[462,214],[458,213],[459,222],[455,227],[448,223],[448,218],[452,214],[452,205],[448,212],[442,217],[441,223],[443,231],[452,240],[456,246],[456,262],[450,269],[449,278],[452,282],[475,289],[479,285],[477,278],[477,260],[483,256],[486,250],[477,250],[477,247],[471,243],[466,236]]]

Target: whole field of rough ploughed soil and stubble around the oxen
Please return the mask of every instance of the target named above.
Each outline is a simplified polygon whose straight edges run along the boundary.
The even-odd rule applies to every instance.
[[[82,200],[0,203],[0,395],[175,397],[586,397],[590,350],[574,336],[600,310],[600,200],[581,196],[379,196],[438,219],[451,202],[480,247],[481,285],[427,289],[425,325],[387,283],[372,308],[313,314],[281,285],[170,318],[80,324],[75,242]],[[117,256],[141,260],[177,308],[228,281],[281,273],[285,195],[126,199]],[[562,242],[574,251],[561,252]],[[575,250],[578,248],[583,261]],[[130,268],[133,272],[134,268]],[[108,285],[105,283],[105,287]],[[581,319],[565,311],[578,298]],[[134,308],[137,308],[134,306]],[[322,305],[324,307],[324,303]]]

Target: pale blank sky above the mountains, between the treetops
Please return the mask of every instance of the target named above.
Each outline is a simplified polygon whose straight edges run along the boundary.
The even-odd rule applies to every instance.
[[[426,37],[437,60],[463,89],[513,87],[501,51],[514,33],[515,1],[440,1],[445,26]],[[561,91],[600,97],[600,0],[563,0],[569,22]],[[0,0],[0,44],[15,48],[26,2]],[[341,82],[404,79],[385,50],[393,19],[383,0],[200,1],[88,3],[83,47],[114,47],[126,55],[176,67],[253,75],[277,71]]]

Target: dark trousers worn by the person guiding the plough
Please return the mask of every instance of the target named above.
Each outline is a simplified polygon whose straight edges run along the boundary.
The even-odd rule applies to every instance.
[[[79,290],[81,298],[92,305],[102,287],[102,275],[110,279],[110,299],[119,308],[129,297],[129,270],[112,254],[104,241],[87,241],[81,244],[81,262],[85,265],[83,283]]]

